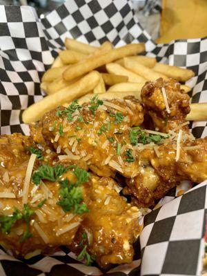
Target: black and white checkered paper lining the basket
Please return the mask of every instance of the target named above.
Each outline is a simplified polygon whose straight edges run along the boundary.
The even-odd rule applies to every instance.
[[[43,97],[41,76],[63,48],[66,37],[94,46],[106,40],[115,46],[145,42],[146,55],[194,70],[196,77],[186,83],[193,88],[192,102],[207,101],[207,39],[156,45],[137,22],[130,1],[70,0],[41,19],[29,7],[0,6],[1,134],[29,134],[28,126],[21,121],[22,111]],[[190,128],[195,137],[207,135],[204,121],[193,122]],[[78,262],[66,247],[53,256],[38,255],[28,260],[14,259],[2,249],[0,275],[199,275],[204,254],[206,186],[204,181],[192,188],[184,181],[161,199],[159,205],[164,205],[144,218],[132,264],[102,273],[95,266]],[[187,192],[176,197],[180,191]]]

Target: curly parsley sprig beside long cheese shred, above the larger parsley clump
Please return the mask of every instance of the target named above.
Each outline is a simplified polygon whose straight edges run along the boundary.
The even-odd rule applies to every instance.
[[[67,172],[68,168],[65,168],[62,165],[57,165],[55,167],[51,167],[48,164],[39,166],[39,168],[33,173],[32,181],[35,185],[39,185],[41,180],[49,180],[55,182],[63,175],[64,172]]]

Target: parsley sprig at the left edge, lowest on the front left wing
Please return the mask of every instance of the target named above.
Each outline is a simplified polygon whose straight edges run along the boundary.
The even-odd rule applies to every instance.
[[[12,215],[4,215],[0,217],[0,227],[2,233],[9,234],[12,226],[14,226],[18,220],[23,219],[26,221],[26,231],[23,233],[20,242],[32,237],[32,234],[30,233],[30,217],[32,215],[34,215],[34,211],[30,208],[30,206],[28,206],[28,204],[24,204],[22,212],[19,209],[16,209]]]

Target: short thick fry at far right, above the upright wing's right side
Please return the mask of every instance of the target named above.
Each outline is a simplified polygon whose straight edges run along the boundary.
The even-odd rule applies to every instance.
[[[162,63],[156,63],[153,70],[172,79],[176,79],[177,81],[188,81],[188,79],[195,76],[195,73],[192,70]]]

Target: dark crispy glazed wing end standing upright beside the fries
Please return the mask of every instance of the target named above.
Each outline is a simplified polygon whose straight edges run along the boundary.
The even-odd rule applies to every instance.
[[[164,93],[170,113],[166,109]],[[185,123],[186,115],[190,112],[190,97],[183,93],[180,84],[173,79],[148,81],[141,90],[141,101],[155,128],[164,133]],[[188,131],[186,127],[183,129]]]

